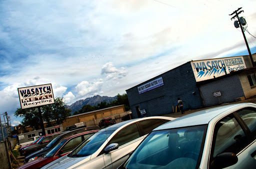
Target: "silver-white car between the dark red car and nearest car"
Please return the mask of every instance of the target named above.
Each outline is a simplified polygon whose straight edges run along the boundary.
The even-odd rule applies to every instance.
[[[148,133],[174,119],[155,116],[111,125],[82,142],[69,155],[42,169],[116,169]]]

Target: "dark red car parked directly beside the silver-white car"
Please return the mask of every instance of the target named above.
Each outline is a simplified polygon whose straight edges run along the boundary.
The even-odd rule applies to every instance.
[[[39,157],[31,162],[25,163],[18,169],[40,169],[43,166],[59,159],[62,156],[70,153],[80,143],[89,138],[99,130],[92,130],[88,132],[79,133],[62,139],[55,147],[53,147],[48,153]]]

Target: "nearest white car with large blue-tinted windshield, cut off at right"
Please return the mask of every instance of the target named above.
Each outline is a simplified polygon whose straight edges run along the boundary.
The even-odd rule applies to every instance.
[[[118,169],[256,169],[256,104],[192,113],[154,129]]]

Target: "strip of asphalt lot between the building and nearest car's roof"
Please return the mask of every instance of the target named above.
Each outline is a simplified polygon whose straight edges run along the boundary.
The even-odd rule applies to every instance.
[[[181,112],[177,112],[177,113],[166,114],[166,115],[163,115],[163,116],[177,118],[177,117],[182,117],[182,116],[185,116],[185,115],[188,115],[188,114],[191,114],[191,113],[194,113],[194,112],[198,112],[198,111],[201,111],[201,110],[210,109],[210,108],[219,107],[219,106],[224,106],[224,105],[237,104],[237,103],[256,103],[256,96],[253,96],[251,98],[248,98],[248,99],[245,99],[245,100],[242,100],[242,101],[238,101],[238,102],[222,103],[220,105],[204,107],[204,108],[195,109],[195,110],[185,110],[185,107],[184,107],[184,110],[185,110],[184,114],[181,114]]]

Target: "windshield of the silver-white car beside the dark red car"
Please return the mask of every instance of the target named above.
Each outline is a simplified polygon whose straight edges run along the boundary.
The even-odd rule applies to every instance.
[[[97,132],[82,142],[69,157],[86,157],[95,153],[114,131]]]

